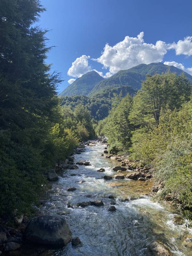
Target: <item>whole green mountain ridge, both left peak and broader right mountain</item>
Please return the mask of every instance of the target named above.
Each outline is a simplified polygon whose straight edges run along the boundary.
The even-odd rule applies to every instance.
[[[76,81],[60,93],[60,96],[87,95],[88,97],[92,97],[103,89],[111,89],[113,87],[127,85],[132,86],[134,90],[139,90],[142,81],[146,78],[146,75],[154,75],[156,73],[161,74],[168,70],[176,73],[177,75],[184,73],[192,84],[192,76],[180,68],[168,66],[162,62],[154,62],[150,64],[140,64],[129,69],[120,70],[115,75],[106,79],[100,76],[96,71],[90,71],[77,78]]]

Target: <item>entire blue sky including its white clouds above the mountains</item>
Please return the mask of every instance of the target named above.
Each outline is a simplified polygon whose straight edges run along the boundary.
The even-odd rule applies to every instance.
[[[52,69],[65,80],[162,61],[192,75],[191,0],[41,0]],[[143,32],[143,33],[142,33]],[[104,49],[105,47],[105,49]],[[72,64],[73,63],[73,64]],[[74,79],[74,80],[70,80]]]

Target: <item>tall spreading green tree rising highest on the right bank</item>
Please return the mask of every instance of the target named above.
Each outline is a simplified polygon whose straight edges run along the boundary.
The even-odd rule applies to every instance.
[[[158,126],[161,110],[180,108],[190,99],[190,93],[191,85],[184,74],[148,75],[134,97],[130,119],[133,124],[141,126],[154,120]]]

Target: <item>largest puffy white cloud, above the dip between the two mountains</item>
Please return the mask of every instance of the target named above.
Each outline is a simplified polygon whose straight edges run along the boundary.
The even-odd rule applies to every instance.
[[[168,45],[163,41],[147,44],[143,36],[144,33],[141,32],[137,37],[125,36],[123,41],[114,46],[106,44],[101,56],[94,60],[103,64],[104,68],[109,68],[111,74],[141,63],[161,62]]]

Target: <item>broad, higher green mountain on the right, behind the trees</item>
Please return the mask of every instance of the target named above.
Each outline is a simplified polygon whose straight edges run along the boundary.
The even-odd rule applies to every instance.
[[[162,62],[150,63],[150,64],[140,64],[136,67],[129,68],[127,70],[120,70],[115,75],[109,77],[108,79],[103,79],[97,83],[88,96],[93,96],[102,89],[113,88],[117,86],[131,85],[133,89],[138,90],[141,87],[141,83],[145,80],[147,74],[154,75],[156,73],[161,74],[170,69],[170,72],[174,72],[180,75],[183,70],[176,68],[174,66],[168,66]],[[192,76],[184,72],[190,83],[192,84]]]

